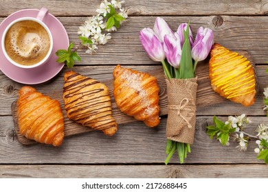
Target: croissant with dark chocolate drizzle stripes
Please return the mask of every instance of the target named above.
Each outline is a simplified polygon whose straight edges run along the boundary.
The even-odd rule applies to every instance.
[[[63,100],[67,117],[112,136],[118,125],[112,117],[111,97],[104,84],[74,71],[64,76]]]

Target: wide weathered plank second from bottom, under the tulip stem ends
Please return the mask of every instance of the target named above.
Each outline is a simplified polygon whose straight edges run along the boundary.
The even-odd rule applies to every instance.
[[[227,117],[221,117],[223,121]],[[268,123],[267,117],[250,117],[253,123],[245,131],[256,134],[260,123]],[[260,163],[257,160],[254,140],[249,141],[247,152],[239,152],[237,143],[230,141],[230,146],[222,146],[219,141],[210,140],[205,133],[206,126],[212,123],[212,116],[197,117],[196,132],[192,153],[188,154],[186,164],[212,163]],[[147,128],[142,122],[120,125],[118,132],[105,136],[102,132],[89,132],[65,138],[63,145],[52,147],[38,144],[21,145],[14,134],[12,117],[0,117],[0,164],[144,164],[160,163],[166,158],[166,117],[160,125]],[[179,163],[177,155],[170,163]]]

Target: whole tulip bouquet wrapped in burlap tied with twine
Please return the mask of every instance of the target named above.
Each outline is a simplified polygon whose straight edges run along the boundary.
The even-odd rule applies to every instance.
[[[166,21],[157,17],[153,29],[144,28],[139,33],[148,56],[161,62],[166,75],[168,91],[168,121],[166,124],[166,154],[168,164],[177,151],[180,163],[190,152],[194,142],[197,62],[205,60],[214,43],[212,29],[199,27],[194,40],[189,23],[179,25],[172,32]]]

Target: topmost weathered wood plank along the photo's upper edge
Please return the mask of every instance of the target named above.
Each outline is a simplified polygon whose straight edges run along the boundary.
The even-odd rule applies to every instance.
[[[0,16],[8,16],[12,12],[27,8],[40,9],[47,7],[56,16],[77,16],[96,14],[100,1],[44,1],[22,0],[1,1]],[[267,14],[267,1],[126,1],[124,7],[130,15],[208,15],[208,14],[236,14],[236,15],[264,15]],[[197,8],[193,11],[192,8]],[[208,11],[209,10],[209,11]]]

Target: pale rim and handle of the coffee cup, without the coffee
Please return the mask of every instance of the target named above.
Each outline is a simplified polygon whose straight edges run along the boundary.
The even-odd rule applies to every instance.
[[[19,19],[16,19],[14,21],[12,21],[8,27],[5,28],[5,31],[3,32],[3,36],[2,36],[2,39],[1,39],[1,45],[2,45],[2,49],[3,49],[3,54],[5,56],[5,58],[8,59],[9,62],[11,62],[12,64],[14,64],[15,66],[17,67],[21,67],[21,68],[24,68],[24,69],[32,69],[32,68],[35,68],[35,67],[39,67],[41,66],[42,64],[45,64],[45,62],[47,62],[47,60],[49,60],[50,56],[52,55],[52,48],[53,48],[53,38],[52,38],[52,34],[49,30],[49,28],[47,27],[47,25],[45,25],[45,23],[43,22],[43,20],[45,19],[45,17],[47,16],[48,14],[48,10],[47,8],[42,8],[36,18],[34,17],[21,17]],[[50,42],[50,46],[49,46],[49,51],[47,51],[47,54],[46,56],[43,58],[43,60],[41,60],[40,62],[37,62],[36,64],[32,64],[32,65],[23,65],[23,64],[19,64],[17,62],[15,62],[14,60],[12,60],[10,58],[10,56],[8,56],[8,53],[7,51],[5,50],[5,36],[8,32],[8,29],[10,29],[10,27],[12,25],[14,25],[14,23],[17,23],[19,21],[35,21],[36,23],[39,23],[42,27],[44,27],[44,29],[46,30],[47,34],[49,35],[49,42]]]

